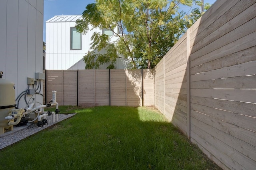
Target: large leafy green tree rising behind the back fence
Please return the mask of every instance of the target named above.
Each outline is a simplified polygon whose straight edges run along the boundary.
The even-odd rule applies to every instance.
[[[76,21],[77,30],[87,33],[92,25],[113,31],[118,40],[110,44],[108,35],[94,33],[90,44],[94,51],[84,56],[86,68],[103,63],[114,68],[118,57],[129,60],[131,68],[155,66],[186,30],[179,4],[191,6],[192,0],[96,0],[88,4],[82,20]],[[105,54],[95,52],[104,48]]]

